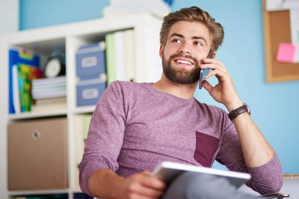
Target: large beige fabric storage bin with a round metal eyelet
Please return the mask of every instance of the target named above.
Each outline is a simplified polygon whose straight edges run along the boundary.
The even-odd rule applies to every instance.
[[[8,125],[8,189],[67,188],[66,118]]]

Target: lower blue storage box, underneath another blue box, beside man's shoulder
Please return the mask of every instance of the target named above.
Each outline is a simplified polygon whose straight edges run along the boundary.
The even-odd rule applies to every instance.
[[[103,73],[104,74],[104,73]],[[107,88],[105,75],[102,78],[81,80],[77,84],[77,106],[90,106],[98,103]]]

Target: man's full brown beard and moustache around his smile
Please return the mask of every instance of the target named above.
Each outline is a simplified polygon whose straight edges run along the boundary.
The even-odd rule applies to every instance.
[[[194,63],[194,67],[189,69],[185,67],[173,67],[171,61],[177,57],[184,57],[191,59]],[[199,61],[191,55],[182,56],[180,54],[171,55],[168,60],[165,59],[164,54],[162,55],[162,67],[166,78],[178,84],[194,84],[199,80],[199,74],[201,68],[199,67]]]

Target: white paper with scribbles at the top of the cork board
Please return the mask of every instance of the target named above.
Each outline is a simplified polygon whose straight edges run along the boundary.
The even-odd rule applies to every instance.
[[[299,9],[298,0],[266,0],[267,11]]]

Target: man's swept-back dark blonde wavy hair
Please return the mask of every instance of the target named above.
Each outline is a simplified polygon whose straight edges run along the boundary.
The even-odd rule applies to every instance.
[[[215,22],[215,19],[210,16],[206,11],[201,10],[199,7],[192,6],[189,8],[182,8],[180,11],[169,13],[163,18],[163,24],[160,31],[160,44],[165,47],[168,33],[173,24],[178,21],[200,22],[204,24],[210,33],[211,48],[217,50],[221,46],[224,31],[220,23]]]

